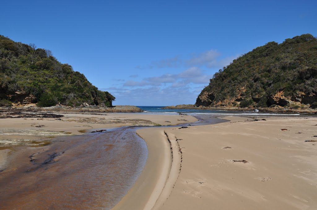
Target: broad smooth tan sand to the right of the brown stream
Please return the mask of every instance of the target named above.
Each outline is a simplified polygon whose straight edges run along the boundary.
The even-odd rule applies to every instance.
[[[113,209],[317,209],[316,118],[225,119],[139,130],[149,157]]]

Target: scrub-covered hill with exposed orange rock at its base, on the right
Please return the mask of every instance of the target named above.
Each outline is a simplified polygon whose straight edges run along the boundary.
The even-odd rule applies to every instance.
[[[311,34],[269,42],[219,70],[196,107],[317,108],[317,39]]]

